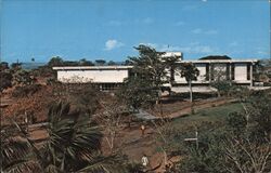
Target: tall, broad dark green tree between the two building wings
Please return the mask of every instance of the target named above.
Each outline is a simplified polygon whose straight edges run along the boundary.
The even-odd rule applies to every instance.
[[[127,102],[128,107],[137,110],[142,106],[152,105],[153,101],[157,104],[160,102],[163,84],[170,80],[167,68],[172,67],[178,57],[164,57],[165,52],[157,52],[143,44],[134,49],[139,51],[139,56],[129,57],[128,63],[133,65],[134,76],[125,81],[119,95]],[[163,115],[162,107],[160,114]]]

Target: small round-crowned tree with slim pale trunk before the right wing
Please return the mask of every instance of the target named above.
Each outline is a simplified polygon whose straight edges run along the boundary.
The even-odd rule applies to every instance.
[[[197,80],[199,70],[192,63],[183,63],[181,67],[177,69],[177,72],[181,75],[182,78],[185,78],[190,88],[190,102],[193,102],[192,81]]]

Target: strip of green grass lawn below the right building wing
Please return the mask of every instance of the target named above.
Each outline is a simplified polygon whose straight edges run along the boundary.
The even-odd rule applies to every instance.
[[[201,121],[221,121],[224,120],[230,112],[234,111],[243,111],[243,107],[240,103],[231,103],[197,110],[194,115],[188,115],[175,119],[172,125],[189,124]]]

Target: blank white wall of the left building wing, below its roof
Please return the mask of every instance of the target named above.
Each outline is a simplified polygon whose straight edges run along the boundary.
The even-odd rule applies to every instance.
[[[128,77],[128,69],[57,70],[62,82],[119,83]]]

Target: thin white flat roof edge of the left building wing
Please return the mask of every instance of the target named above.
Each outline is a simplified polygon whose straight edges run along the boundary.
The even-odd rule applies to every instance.
[[[63,66],[53,67],[55,70],[66,70],[66,69],[130,69],[132,66]]]

